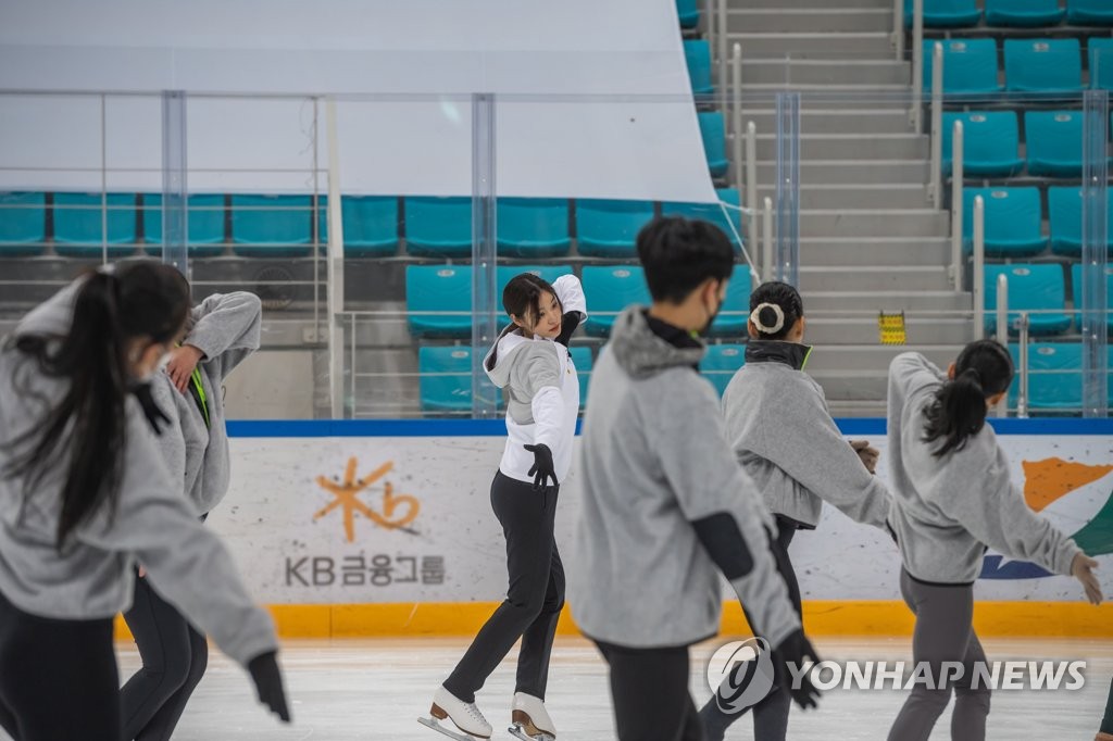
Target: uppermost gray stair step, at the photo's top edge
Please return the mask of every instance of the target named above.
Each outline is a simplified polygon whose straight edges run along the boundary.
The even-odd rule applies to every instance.
[[[732,8],[728,33],[846,33],[893,31],[893,8]]]

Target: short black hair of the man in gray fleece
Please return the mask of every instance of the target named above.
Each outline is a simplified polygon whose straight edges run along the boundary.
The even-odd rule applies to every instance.
[[[735,249],[722,229],[680,216],[656,218],[638,233],[638,258],[654,302],[679,304],[708,278],[735,271]]]

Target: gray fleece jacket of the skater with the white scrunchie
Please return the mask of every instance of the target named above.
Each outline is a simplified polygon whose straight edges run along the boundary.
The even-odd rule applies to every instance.
[[[815,527],[827,501],[885,527],[889,493],[866,470],[804,373],[809,347],[750,340],[746,365],[722,395],[727,438],[774,514]]]

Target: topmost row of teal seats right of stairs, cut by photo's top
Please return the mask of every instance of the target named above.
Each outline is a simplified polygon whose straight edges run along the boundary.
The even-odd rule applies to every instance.
[[[1037,28],[1066,21],[1074,26],[1113,24],[1113,3],[1109,0],[983,0],[988,26]],[[905,0],[905,24],[912,26],[913,0]],[[971,28],[982,22],[982,9],[975,0],[924,0],[924,26],[927,28]]]

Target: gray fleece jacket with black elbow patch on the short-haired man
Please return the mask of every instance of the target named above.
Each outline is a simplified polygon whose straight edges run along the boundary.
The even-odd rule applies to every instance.
[[[644,312],[619,316],[592,374],[572,613],[597,641],[690,645],[718,632],[722,570],[776,646],[800,621],[770,552],[772,517],[735,461],[715,389],[693,367],[706,348],[662,339]],[[711,522],[716,542],[701,535]],[[735,556],[741,567],[728,563]]]

